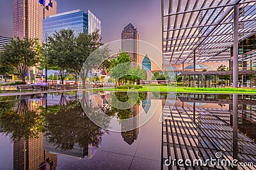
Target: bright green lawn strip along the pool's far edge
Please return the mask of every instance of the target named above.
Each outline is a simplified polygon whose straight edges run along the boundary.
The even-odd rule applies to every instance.
[[[103,90],[103,89],[93,89]],[[127,91],[126,89],[104,89],[105,91]],[[148,86],[138,89],[138,92],[186,92],[186,93],[220,93],[220,94],[256,94],[256,89],[233,89],[233,88],[191,88],[191,87],[167,87]]]

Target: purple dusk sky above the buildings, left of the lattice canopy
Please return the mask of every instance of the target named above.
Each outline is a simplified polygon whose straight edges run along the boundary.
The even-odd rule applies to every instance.
[[[38,0],[34,0],[38,1]],[[104,43],[120,39],[130,22],[138,28],[140,39],[161,48],[160,0],[57,0],[58,13],[91,10],[102,22]],[[0,36],[12,37],[12,0],[1,0]]]

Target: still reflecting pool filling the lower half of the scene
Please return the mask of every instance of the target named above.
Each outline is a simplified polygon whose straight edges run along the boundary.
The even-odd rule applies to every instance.
[[[147,92],[125,110],[109,104],[113,96],[129,100],[127,92],[84,92],[84,103],[78,92],[0,97],[0,169],[256,168],[256,96]],[[102,112],[129,130],[88,118]]]

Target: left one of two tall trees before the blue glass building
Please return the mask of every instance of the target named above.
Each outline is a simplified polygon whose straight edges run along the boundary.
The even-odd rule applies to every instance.
[[[75,56],[75,36],[70,29],[62,29],[55,32],[52,37],[49,37],[47,45],[47,65],[50,69],[60,72],[61,83],[67,76],[67,69],[70,66],[70,60]]]

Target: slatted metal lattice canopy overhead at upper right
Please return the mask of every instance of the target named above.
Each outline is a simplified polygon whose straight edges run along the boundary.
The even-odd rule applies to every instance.
[[[230,60],[235,4],[242,41],[256,32],[256,1],[162,0],[163,64]]]

